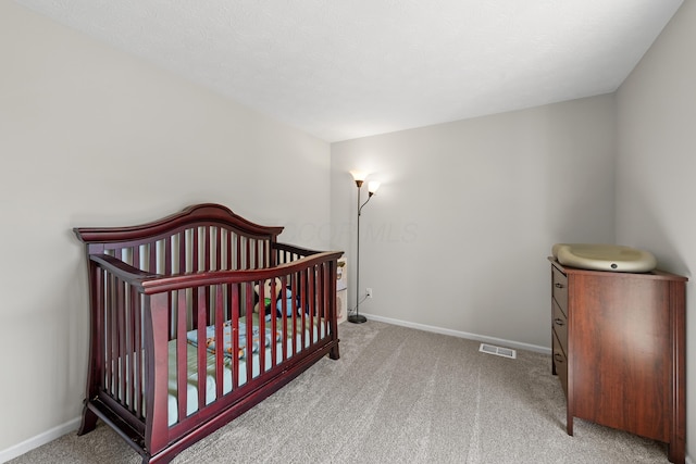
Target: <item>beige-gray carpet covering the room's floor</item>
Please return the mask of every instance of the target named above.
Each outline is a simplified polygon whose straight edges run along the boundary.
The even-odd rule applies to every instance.
[[[550,356],[478,352],[471,340],[368,322],[339,326],[323,359],[175,463],[667,463],[662,444],[575,421]],[[101,425],[11,461],[139,463]]]

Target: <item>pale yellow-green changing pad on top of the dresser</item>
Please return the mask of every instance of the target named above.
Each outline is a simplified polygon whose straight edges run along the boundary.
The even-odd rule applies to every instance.
[[[556,243],[551,252],[559,263],[581,269],[646,273],[657,266],[652,253],[620,244]]]

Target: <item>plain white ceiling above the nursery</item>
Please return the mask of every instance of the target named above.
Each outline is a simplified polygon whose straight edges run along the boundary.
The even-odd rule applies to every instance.
[[[682,0],[15,0],[326,141],[616,90]]]

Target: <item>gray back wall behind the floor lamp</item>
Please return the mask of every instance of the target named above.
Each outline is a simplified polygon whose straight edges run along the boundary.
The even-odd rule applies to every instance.
[[[614,133],[609,95],[333,143],[332,240],[351,286],[349,171],[383,181],[362,210],[361,312],[548,349],[551,246],[614,238]]]

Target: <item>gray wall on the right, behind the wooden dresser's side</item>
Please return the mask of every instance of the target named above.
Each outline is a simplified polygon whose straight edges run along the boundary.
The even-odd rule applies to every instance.
[[[696,2],[685,1],[617,92],[617,239],[651,250],[687,284],[686,391],[696,392]],[[696,456],[687,393],[686,452]]]

